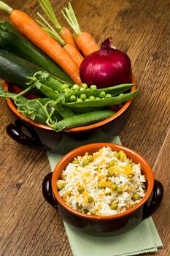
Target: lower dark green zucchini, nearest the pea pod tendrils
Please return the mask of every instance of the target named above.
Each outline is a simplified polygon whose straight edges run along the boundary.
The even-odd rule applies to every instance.
[[[44,71],[40,67],[21,59],[18,56],[15,56],[12,53],[7,52],[7,50],[0,49],[0,78],[9,82],[14,83],[15,85],[26,89],[28,85],[27,77],[32,77],[38,71]],[[42,97],[42,93],[33,89],[32,92],[39,97]]]

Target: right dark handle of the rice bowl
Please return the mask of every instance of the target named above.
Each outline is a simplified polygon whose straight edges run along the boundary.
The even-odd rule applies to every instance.
[[[161,205],[163,199],[163,185],[160,181],[154,180],[152,200],[150,205],[147,206],[147,203],[144,204],[144,214],[143,219],[150,217]]]

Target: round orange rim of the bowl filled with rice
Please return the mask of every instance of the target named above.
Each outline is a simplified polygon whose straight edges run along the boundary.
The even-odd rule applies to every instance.
[[[63,199],[60,197],[60,195],[58,194],[58,189],[56,186],[57,183],[57,174],[58,174],[58,168],[60,168],[61,165],[64,165],[64,162],[66,161],[66,159],[77,157],[79,154],[79,151],[84,151],[84,152],[88,152],[89,148],[102,148],[103,146],[110,146],[111,148],[114,147],[116,148],[117,151],[126,151],[126,153],[131,153],[133,154],[133,156],[138,159],[137,163],[143,163],[146,166],[146,170],[147,170],[147,174],[148,177],[147,178],[147,192],[144,195],[144,197],[142,198],[142,200],[136,204],[136,206],[130,208],[127,211],[124,211],[123,213],[120,214],[114,214],[114,215],[108,215],[108,216],[93,216],[93,215],[88,215],[88,214],[82,214],[80,211],[75,211],[74,209],[72,209],[71,207],[69,207],[64,201]],[[114,149],[115,150],[115,149]],[[66,167],[66,165],[65,165]],[[63,170],[63,168],[62,168]],[[53,190],[53,194],[55,196],[55,199],[58,201],[58,203],[61,204],[61,206],[63,206],[63,208],[65,208],[67,211],[69,211],[71,214],[76,215],[77,217],[81,217],[83,219],[91,219],[91,220],[106,220],[106,219],[119,219],[121,217],[127,217],[129,214],[132,214],[134,211],[136,211],[137,209],[139,209],[142,205],[144,205],[144,203],[147,202],[148,198],[150,197],[151,193],[152,193],[152,189],[153,189],[153,185],[154,185],[154,177],[153,177],[153,173],[152,173],[152,169],[149,165],[149,163],[147,162],[146,159],[144,159],[144,157],[142,157],[141,154],[137,153],[136,151],[132,150],[131,148],[125,147],[125,146],[120,146],[117,145],[115,143],[92,143],[92,144],[88,144],[85,146],[81,146],[79,148],[75,148],[74,150],[70,151],[68,154],[66,154],[64,157],[61,158],[61,160],[58,162],[58,164],[55,166],[54,172],[53,172],[53,176],[52,176],[52,190]]]

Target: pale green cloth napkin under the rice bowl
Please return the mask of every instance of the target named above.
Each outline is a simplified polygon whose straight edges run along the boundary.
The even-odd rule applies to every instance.
[[[110,138],[102,132],[96,132],[93,139],[77,141],[66,135],[58,145],[57,154],[47,153],[51,169],[54,170],[61,157],[72,149],[99,142],[121,144],[119,137]],[[88,236],[82,231],[75,230],[66,222],[64,222],[64,227],[74,256],[139,255],[146,252],[158,252],[158,248],[163,247],[151,217],[121,236]]]

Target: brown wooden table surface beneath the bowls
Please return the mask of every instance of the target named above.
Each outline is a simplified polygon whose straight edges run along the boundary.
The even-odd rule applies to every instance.
[[[32,18],[40,10],[38,1],[34,0],[6,3]],[[58,18],[65,24],[60,10],[66,1],[53,0],[52,3]],[[113,44],[131,58],[139,95],[120,139],[124,146],[138,151],[150,162],[155,178],[163,183],[163,203],[152,217],[164,244],[157,255],[168,256],[169,1],[72,0],[72,5],[82,30],[93,34],[98,43],[112,36]],[[7,15],[0,15],[1,19],[7,19]],[[62,219],[42,197],[42,180],[50,172],[47,155],[20,146],[7,136],[5,128],[12,119],[3,100],[0,105],[0,255],[72,255]]]

